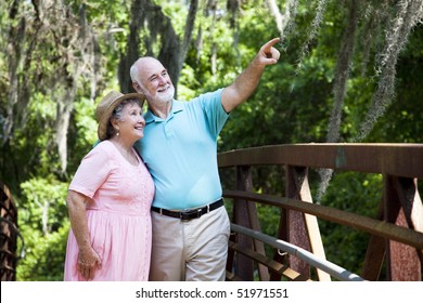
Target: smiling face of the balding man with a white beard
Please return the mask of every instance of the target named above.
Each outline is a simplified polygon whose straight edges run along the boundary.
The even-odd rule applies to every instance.
[[[151,104],[165,104],[171,102],[175,87],[166,68],[155,58],[146,57],[139,62],[139,88]]]

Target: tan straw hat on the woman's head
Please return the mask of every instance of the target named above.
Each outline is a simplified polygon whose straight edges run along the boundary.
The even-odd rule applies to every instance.
[[[98,134],[100,141],[107,139],[107,124],[113,114],[113,110],[120,102],[128,98],[138,98],[141,105],[144,103],[145,96],[139,93],[123,94],[116,91],[111,91],[102,101],[100,101],[95,110],[95,119],[99,121]]]

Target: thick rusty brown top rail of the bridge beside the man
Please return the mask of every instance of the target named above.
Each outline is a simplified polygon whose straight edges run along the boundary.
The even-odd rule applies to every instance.
[[[423,144],[310,143],[260,146],[218,155],[219,168],[289,164],[423,179]]]

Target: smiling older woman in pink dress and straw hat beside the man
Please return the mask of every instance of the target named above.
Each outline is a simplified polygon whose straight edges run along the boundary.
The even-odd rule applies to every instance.
[[[97,108],[100,143],[82,159],[66,198],[65,280],[149,278],[154,184],[132,147],[144,135],[143,101],[112,91]]]

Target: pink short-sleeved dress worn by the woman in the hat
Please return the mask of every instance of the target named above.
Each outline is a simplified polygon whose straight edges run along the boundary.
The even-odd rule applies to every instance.
[[[112,142],[103,141],[82,159],[70,182],[69,189],[92,199],[86,205],[88,228],[92,247],[102,260],[93,280],[146,281],[149,278],[154,183],[137,157],[139,164],[132,166]],[[85,280],[77,271],[78,251],[70,228],[64,280]]]

